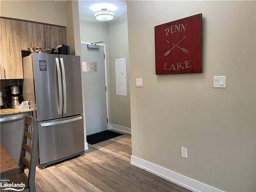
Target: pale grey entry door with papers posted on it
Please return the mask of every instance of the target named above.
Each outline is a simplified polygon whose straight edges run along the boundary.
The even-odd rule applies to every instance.
[[[104,47],[81,44],[86,135],[108,130]]]

